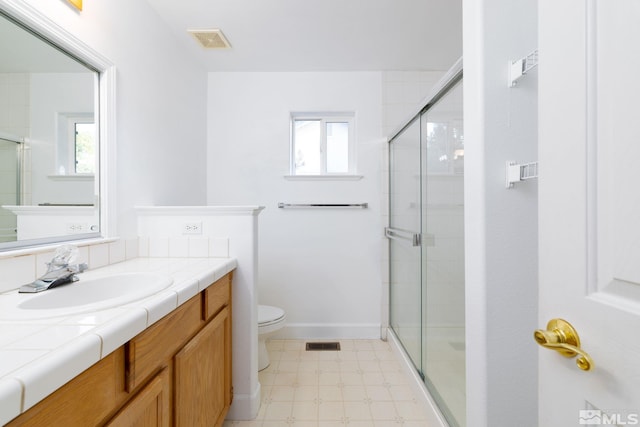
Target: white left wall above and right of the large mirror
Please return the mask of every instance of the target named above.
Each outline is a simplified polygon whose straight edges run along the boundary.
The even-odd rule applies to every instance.
[[[146,2],[25,0],[117,70],[117,234],[136,232],[135,205],[206,199],[206,72]]]

